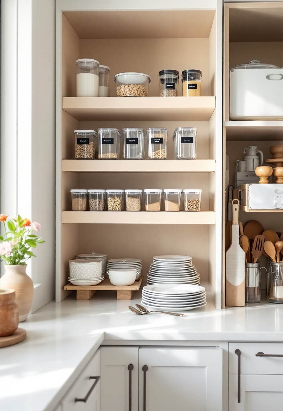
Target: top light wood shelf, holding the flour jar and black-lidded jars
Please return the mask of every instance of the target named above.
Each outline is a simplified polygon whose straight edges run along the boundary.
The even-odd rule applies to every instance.
[[[215,97],[63,97],[76,120],[209,120]]]

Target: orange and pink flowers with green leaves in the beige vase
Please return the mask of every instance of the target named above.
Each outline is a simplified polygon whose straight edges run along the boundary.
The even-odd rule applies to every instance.
[[[3,222],[5,229],[4,236],[0,236],[0,259],[7,265],[25,265],[28,259],[35,257],[30,249],[45,242],[32,234],[32,231],[40,230],[40,224],[18,215],[16,219],[7,221],[7,231],[7,218],[7,215],[0,214],[0,222]]]

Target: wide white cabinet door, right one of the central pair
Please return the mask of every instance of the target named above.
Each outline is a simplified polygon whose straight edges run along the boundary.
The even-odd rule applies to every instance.
[[[221,349],[142,348],[139,376],[139,411],[222,410]]]

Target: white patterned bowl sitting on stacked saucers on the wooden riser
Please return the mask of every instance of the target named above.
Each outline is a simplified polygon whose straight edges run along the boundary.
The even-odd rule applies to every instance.
[[[69,261],[70,277],[68,280],[73,285],[97,285],[104,280],[102,274],[102,260],[77,259]]]

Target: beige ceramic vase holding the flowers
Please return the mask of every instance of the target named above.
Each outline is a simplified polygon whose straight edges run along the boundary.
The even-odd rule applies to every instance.
[[[25,321],[32,306],[33,282],[25,272],[27,265],[5,265],[5,274],[0,278],[0,288],[16,291],[15,302],[18,305],[19,321]]]

